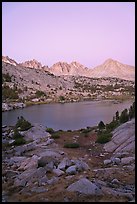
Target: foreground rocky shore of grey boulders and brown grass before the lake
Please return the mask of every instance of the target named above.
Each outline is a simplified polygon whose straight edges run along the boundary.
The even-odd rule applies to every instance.
[[[33,124],[19,131],[27,141],[20,146],[13,145],[13,127],[3,126],[2,202],[134,202],[135,120],[123,125],[102,145],[95,142],[95,130],[86,137],[62,131],[53,139],[45,127]],[[115,140],[124,133],[119,148]],[[64,148],[68,140],[80,147]]]

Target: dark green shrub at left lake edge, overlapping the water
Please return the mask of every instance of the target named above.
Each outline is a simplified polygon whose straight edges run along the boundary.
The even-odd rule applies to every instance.
[[[23,118],[23,116],[21,116],[20,118],[18,118],[18,121],[16,123],[16,128],[20,127],[21,131],[25,131],[28,130],[32,127],[31,123],[28,122],[27,120],[25,120]]]

